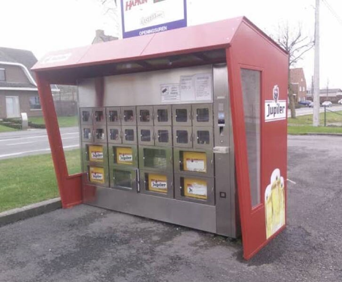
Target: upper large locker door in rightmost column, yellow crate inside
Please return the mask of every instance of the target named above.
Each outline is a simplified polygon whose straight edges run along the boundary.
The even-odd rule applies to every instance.
[[[214,177],[214,153],[196,149],[173,149],[174,173]]]

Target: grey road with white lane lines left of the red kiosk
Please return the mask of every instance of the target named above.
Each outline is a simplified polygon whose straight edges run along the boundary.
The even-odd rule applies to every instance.
[[[79,148],[78,127],[60,128],[64,150]],[[0,160],[50,152],[45,129],[0,133]]]

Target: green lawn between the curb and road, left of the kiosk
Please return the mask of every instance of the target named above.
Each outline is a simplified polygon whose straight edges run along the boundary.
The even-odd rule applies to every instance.
[[[81,171],[80,150],[65,151],[69,174]],[[0,212],[59,196],[51,154],[0,161]]]

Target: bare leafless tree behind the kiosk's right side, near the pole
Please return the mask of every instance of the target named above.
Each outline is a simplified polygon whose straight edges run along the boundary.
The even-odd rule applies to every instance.
[[[295,102],[293,90],[290,83],[290,68],[293,67],[299,60],[303,58],[303,55],[308,52],[313,46],[314,41],[302,33],[301,25],[294,28],[290,28],[288,23],[279,24],[278,31],[275,36],[272,36],[280,47],[289,53],[288,58],[288,96],[291,109],[291,117],[296,117]]]

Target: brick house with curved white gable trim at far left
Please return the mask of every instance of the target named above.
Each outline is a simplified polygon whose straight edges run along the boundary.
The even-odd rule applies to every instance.
[[[42,116],[31,51],[0,47],[0,118]],[[54,91],[58,89],[54,86]]]

